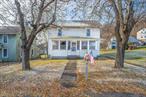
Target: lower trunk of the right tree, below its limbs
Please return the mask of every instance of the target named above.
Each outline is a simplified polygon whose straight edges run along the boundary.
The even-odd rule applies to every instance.
[[[124,57],[125,57],[125,47],[126,44],[122,44],[121,42],[117,42],[117,52],[115,59],[115,68],[123,68],[124,67]]]

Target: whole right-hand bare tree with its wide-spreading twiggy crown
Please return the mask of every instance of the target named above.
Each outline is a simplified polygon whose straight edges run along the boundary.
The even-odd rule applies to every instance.
[[[134,26],[146,18],[145,0],[81,0],[87,4],[78,4],[79,8],[88,2],[92,2],[92,7],[88,8],[92,12],[89,19],[98,19],[102,24],[109,22],[114,24],[114,32],[117,41],[117,53],[115,67],[124,67],[125,48],[130,33]],[[78,1],[77,1],[78,3]],[[90,5],[89,5],[90,6]],[[86,12],[89,12],[86,9]]]

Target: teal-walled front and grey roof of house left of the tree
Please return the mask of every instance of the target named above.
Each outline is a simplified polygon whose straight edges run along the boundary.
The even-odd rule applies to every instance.
[[[0,27],[0,61],[17,61],[18,59],[18,26]]]

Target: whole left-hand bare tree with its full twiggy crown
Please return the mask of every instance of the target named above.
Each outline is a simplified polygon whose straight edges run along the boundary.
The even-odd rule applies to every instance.
[[[0,3],[3,23],[20,24],[22,69],[29,70],[31,45],[36,35],[55,21],[57,0],[2,0]]]

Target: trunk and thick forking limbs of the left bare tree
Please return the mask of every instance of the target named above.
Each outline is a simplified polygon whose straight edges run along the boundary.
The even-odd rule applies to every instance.
[[[49,27],[55,21],[55,14],[56,14],[56,7],[57,7],[57,0],[50,0],[50,1],[40,0],[40,2],[37,0],[34,0],[34,1],[30,0],[30,2],[31,2],[30,11],[31,11],[31,27],[32,28],[30,31],[30,35],[27,37],[24,13],[21,9],[20,1],[15,0],[15,5],[17,7],[17,12],[19,15],[19,22],[20,22],[20,27],[21,27],[22,68],[24,70],[30,69],[29,56],[30,56],[30,48],[33,43],[33,40],[35,39],[36,35],[39,32]],[[45,11],[49,10],[47,8],[50,7],[52,3],[54,3],[54,13],[51,17],[51,20],[49,22],[46,21],[47,23],[44,23],[41,21],[43,19],[43,14]],[[36,10],[35,8],[38,8],[38,9]]]

